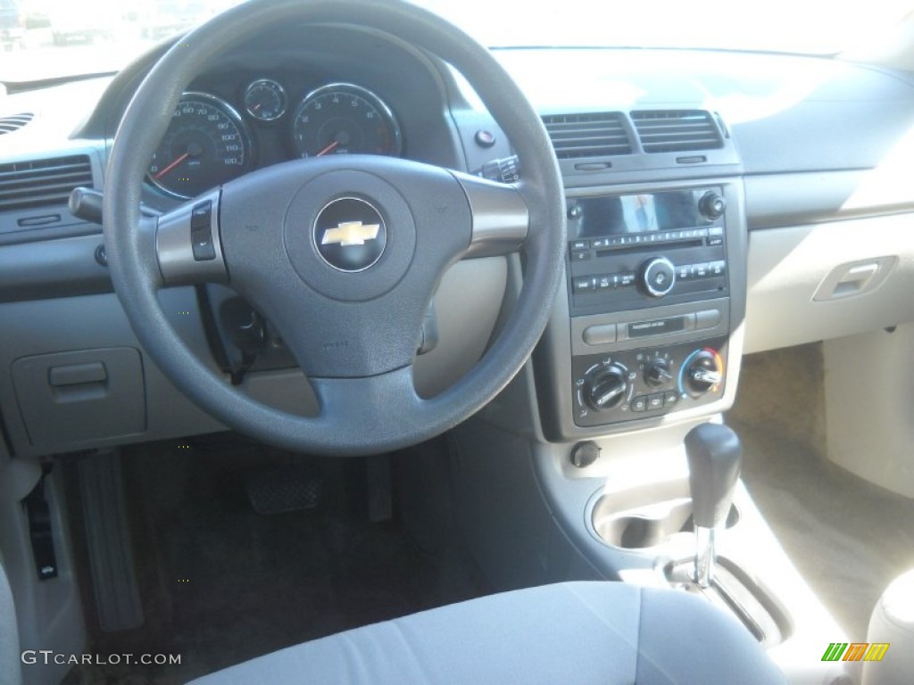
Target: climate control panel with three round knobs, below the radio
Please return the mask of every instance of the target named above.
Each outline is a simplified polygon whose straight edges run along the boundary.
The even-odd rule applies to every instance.
[[[726,371],[726,338],[575,356],[575,424],[605,426],[710,404],[724,393]]]

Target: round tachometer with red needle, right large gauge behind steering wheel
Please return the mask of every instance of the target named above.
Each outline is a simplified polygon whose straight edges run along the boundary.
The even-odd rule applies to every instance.
[[[333,83],[309,93],[292,117],[292,144],[300,157],[400,153],[393,112],[370,90]]]

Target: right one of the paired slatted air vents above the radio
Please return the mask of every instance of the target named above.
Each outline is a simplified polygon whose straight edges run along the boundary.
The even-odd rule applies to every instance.
[[[685,153],[723,147],[720,130],[703,110],[632,111],[645,153]]]

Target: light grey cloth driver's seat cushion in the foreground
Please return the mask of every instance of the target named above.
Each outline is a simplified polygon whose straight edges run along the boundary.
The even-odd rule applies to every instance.
[[[785,682],[739,622],[705,600],[565,583],[424,611],[239,664],[193,685]]]

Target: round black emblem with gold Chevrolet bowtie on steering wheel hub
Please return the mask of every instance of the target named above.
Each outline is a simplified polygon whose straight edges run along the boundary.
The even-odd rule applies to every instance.
[[[384,254],[388,229],[374,206],[356,197],[326,205],[314,220],[314,248],[329,266],[356,273],[370,269]]]

